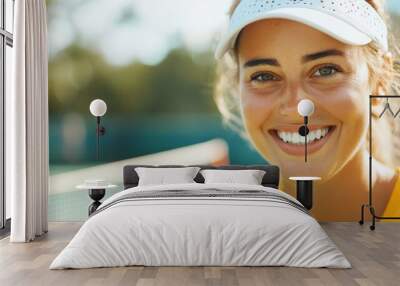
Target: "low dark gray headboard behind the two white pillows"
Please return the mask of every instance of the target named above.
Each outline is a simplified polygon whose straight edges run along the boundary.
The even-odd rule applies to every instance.
[[[208,166],[208,165],[190,165],[200,167],[201,169],[221,169],[221,170],[264,170],[266,173],[262,180],[262,185],[265,187],[271,187],[278,189],[279,187],[279,167],[273,165],[227,165],[227,166]],[[124,189],[133,188],[138,185],[139,177],[135,171],[137,167],[148,167],[148,168],[173,168],[173,167],[185,167],[183,165],[128,165],[124,167]],[[200,174],[194,178],[197,183],[204,183],[204,178]]]

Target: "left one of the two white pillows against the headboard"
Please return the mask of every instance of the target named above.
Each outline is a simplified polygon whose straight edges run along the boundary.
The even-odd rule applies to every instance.
[[[139,176],[138,186],[195,183],[199,167],[135,168]]]

